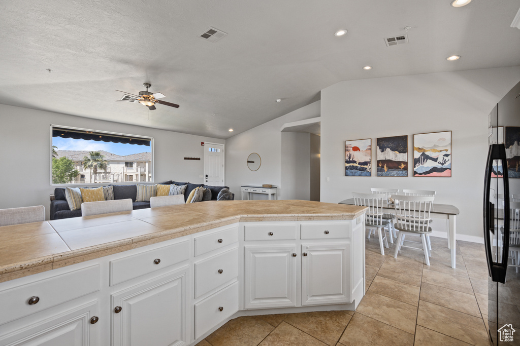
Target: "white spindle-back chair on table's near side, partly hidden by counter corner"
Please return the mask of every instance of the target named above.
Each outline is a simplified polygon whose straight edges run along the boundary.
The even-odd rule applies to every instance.
[[[381,249],[381,255],[384,256],[383,240],[384,246],[388,247],[386,233],[384,233],[384,227],[388,225],[388,220],[383,219],[383,202],[386,201],[384,195],[358,192],[353,192],[352,194],[354,195],[354,204],[368,206],[368,211],[365,214],[365,227],[369,233],[372,229],[378,231],[379,247]],[[383,232],[381,232],[381,229],[383,229]]]

